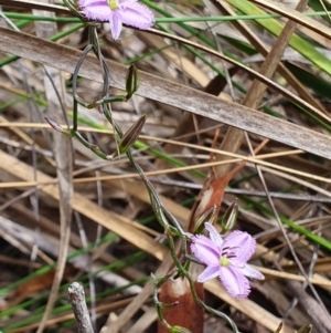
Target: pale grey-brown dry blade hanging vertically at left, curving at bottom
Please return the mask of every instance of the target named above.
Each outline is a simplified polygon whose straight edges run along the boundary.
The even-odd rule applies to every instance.
[[[53,4],[52,0],[42,0],[46,4]],[[55,17],[53,12],[33,11],[36,15]],[[36,22],[36,35],[41,39],[50,39],[57,33],[56,24],[50,22]],[[65,116],[64,101],[66,100],[64,80],[62,73],[53,67],[44,69],[44,86],[47,105],[47,115],[50,115],[57,124],[63,123]],[[54,281],[52,283],[51,294],[47,300],[46,309],[38,327],[38,333],[44,331],[46,321],[53,310],[57,298],[57,291],[65,270],[66,257],[70,247],[71,225],[72,225],[72,174],[73,174],[73,150],[71,141],[63,135],[54,135],[54,157],[56,160],[56,173],[58,179],[60,192],[60,251],[57,266],[55,269]]]

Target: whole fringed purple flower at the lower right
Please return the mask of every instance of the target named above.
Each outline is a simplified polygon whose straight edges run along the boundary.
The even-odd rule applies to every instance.
[[[233,231],[225,239],[211,223],[204,223],[210,238],[197,235],[192,238],[191,251],[206,266],[197,282],[220,278],[234,298],[247,298],[250,292],[248,278],[264,280],[264,275],[246,262],[255,252],[255,239],[243,231]]]

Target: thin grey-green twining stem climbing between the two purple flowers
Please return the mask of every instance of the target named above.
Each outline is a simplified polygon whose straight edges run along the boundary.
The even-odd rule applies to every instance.
[[[114,128],[115,137],[117,141],[120,141],[124,137],[124,133],[117,122],[111,116],[111,111],[109,103],[111,102],[126,102],[127,95],[117,95],[117,96],[110,96],[108,93],[109,84],[110,84],[110,71],[109,67],[100,52],[100,48],[97,41],[96,37],[96,28],[95,25],[89,27],[89,42],[85,50],[83,51],[82,56],[79,58],[77,65],[75,67],[74,74],[73,74],[73,98],[74,98],[74,111],[73,111],[73,128],[71,129],[71,135],[76,137],[85,147],[89,148],[92,152],[94,152],[97,156],[104,159],[110,159],[111,155],[107,155],[104,152],[99,149],[96,145],[93,145],[88,143],[77,131],[77,124],[78,124],[78,105],[82,105],[87,108],[94,108],[97,107],[102,113],[104,113],[107,121],[110,123],[110,125]],[[100,61],[100,66],[103,69],[104,74],[104,86],[103,86],[103,96],[98,101],[87,103],[84,101],[84,98],[79,97],[77,94],[77,77],[79,73],[79,69],[88,54],[88,52],[93,50],[93,52],[96,54],[97,59]],[[154,293],[153,293],[153,300],[157,306],[158,315],[160,319],[160,322],[164,324],[168,329],[171,329],[171,326],[166,322],[162,310],[167,309],[169,306],[174,306],[173,304],[163,304],[158,300],[158,289],[166,283],[168,280],[175,279],[175,278],[185,278],[189,282],[190,290],[192,292],[192,295],[194,300],[206,311],[225,319],[232,326],[233,331],[235,333],[238,333],[236,324],[224,313],[216,311],[210,306],[207,306],[196,294],[194,282],[192,278],[190,277],[188,272],[188,263],[190,262],[190,254],[188,254],[188,247],[186,242],[188,240],[192,238],[192,235],[189,232],[185,232],[179,221],[175,219],[175,217],[166,209],[166,207],[162,205],[156,189],[153,188],[152,184],[149,181],[149,179],[143,174],[142,168],[140,165],[135,160],[135,157],[130,150],[130,148],[127,149],[126,156],[128,157],[131,165],[135,167],[136,171],[139,174],[141,180],[145,183],[145,186],[148,190],[150,202],[153,209],[153,212],[156,214],[156,217],[159,221],[159,223],[164,229],[164,233],[167,236],[168,246],[170,249],[170,253],[174,263],[174,269],[168,273],[166,277],[162,278],[156,278],[156,287],[154,287]],[[214,209],[215,210],[215,209]],[[201,220],[209,220],[211,217],[214,216],[214,210],[207,212],[207,215],[204,215],[201,217]],[[180,239],[181,242],[181,256],[177,254],[175,251],[175,244],[174,244],[174,236]]]

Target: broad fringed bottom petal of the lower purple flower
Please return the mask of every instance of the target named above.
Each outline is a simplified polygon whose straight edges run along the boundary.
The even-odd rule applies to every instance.
[[[250,292],[248,279],[234,267],[221,267],[220,280],[233,298],[245,299]]]

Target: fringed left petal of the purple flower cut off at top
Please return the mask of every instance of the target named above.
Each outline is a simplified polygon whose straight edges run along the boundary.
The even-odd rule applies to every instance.
[[[106,0],[79,0],[78,6],[84,15],[93,21],[109,21],[114,13]]]

